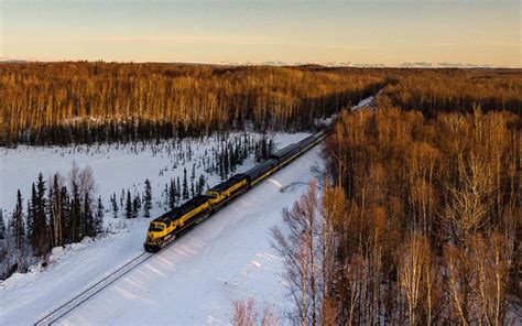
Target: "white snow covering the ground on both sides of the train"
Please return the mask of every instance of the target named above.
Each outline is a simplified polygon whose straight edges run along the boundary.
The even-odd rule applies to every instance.
[[[276,135],[275,144],[281,148],[305,135]],[[118,194],[118,189],[142,183],[145,177],[153,183],[157,196],[160,191],[154,184],[164,184],[164,180],[176,175],[180,169],[159,176],[157,171],[165,165],[166,157],[137,155],[124,150],[111,150],[110,155],[99,156],[65,155],[59,163],[53,150],[7,151],[2,154],[0,175],[2,191],[12,194],[12,199],[15,188],[28,187],[39,171],[44,175],[55,171],[66,175],[73,160],[80,166],[93,167],[98,193],[102,196]],[[248,297],[282,314],[290,301],[280,276],[281,260],[270,244],[270,228],[282,226],[281,210],[306,191],[306,184],[322,166],[318,152],[314,148],[272,175],[58,324],[222,325],[230,322],[232,301]],[[252,164],[247,162],[240,170]],[[8,207],[3,206],[6,199],[1,200],[2,207]],[[162,208],[155,207],[152,213],[155,216],[161,211]],[[149,221],[145,218],[127,220],[127,228],[116,235],[55,249],[46,269],[34,268],[30,273],[14,274],[0,282],[1,324],[32,324],[137,257],[143,250]]]

